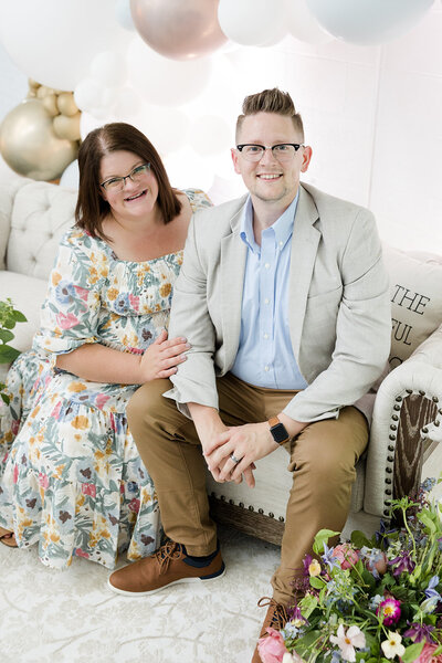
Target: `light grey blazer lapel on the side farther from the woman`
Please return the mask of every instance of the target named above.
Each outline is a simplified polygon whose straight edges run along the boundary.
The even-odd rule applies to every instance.
[[[288,286],[288,325],[296,360],[299,357],[308,290],[320,240],[320,230],[314,225],[318,219],[319,214],[312,197],[301,186],[292,236]]]

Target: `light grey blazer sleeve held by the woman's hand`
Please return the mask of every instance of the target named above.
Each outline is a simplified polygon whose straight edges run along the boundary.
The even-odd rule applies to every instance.
[[[185,336],[192,348],[187,361],[170,377],[173,388],[164,396],[176,400],[178,409],[190,418],[186,403],[197,402],[218,409],[213,352],[215,329],[207,304],[207,255],[201,257],[197,242],[198,214],[189,225],[181,271],[173,286],[169,337]]]

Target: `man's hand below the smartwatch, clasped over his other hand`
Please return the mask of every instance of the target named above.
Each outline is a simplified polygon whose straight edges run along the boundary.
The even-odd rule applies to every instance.
[[[278,444],[273,440],[269,423],[246,423],[229,428],[219,433],[206,446],[204,455],[209,470],[215,481],[235,481],[244,478],[250,487],[255,485],[252,469],[254,462],[275,451]],[[236,463],[231,454],[239,460]]]

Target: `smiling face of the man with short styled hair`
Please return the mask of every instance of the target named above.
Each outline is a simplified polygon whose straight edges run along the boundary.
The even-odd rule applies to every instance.
[[[303,143],[291,117],[277,113],[248,115],[241,126],[238,145],[254,144],[273,147],[283,143]],[[235,171],[242,176],[252,199],[278,207],[288,207],[297,193],[301,172],[305,172],[312,157],[311,147],[301,147],[288,161],[278,161],[266,149],[260,161],[248,161],[232,149]]]

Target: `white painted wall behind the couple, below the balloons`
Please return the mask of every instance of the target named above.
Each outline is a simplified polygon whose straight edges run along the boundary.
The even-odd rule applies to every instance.
[[[412,32],[382,46],[338,41],[311,46],[287,38],[272,49],[240,49],[231,55],[246,94],[269,85],[291,92],[314,148],[307,181],[369,207],[388,243],[438,253],[442,253],[441,35],[442,0],[438,0]],[[25,76],[0,46],[0,119],[25,94]],[[220,159],[224,164],[225,156]],[[222,183],[223,197],[229,190]],[[233,185],[231,191],[234,194]]]

